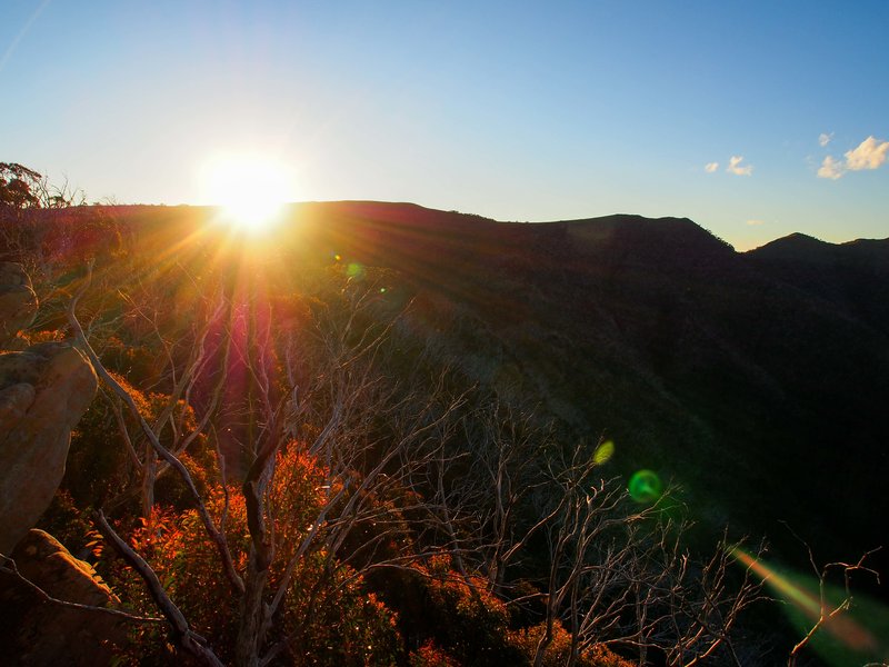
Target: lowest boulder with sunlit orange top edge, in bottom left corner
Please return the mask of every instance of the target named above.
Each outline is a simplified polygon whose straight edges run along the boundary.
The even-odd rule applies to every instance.
[[[113,607],[118,598],[52,536],[30,530],[12,552],[19,573],[58,600]],[[127,641],[127,624],[101,611],[42,599],[11,575],[0,576],[0,646],[4,665],[108,665]]]

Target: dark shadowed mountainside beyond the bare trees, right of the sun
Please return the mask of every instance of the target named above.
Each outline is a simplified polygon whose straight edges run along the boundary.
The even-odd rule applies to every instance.
[[[296,215],[309,248],[402,273],[422,336],[473,381],[607,432],[621,472],[661,470],[705,522],[785,541],[786,520],[830,557],[885,539],[889,241],[738,253],[675,218]]]

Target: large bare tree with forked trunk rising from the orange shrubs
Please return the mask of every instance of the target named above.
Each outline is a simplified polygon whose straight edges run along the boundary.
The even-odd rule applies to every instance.
[[[174,470],[190,489],[203,529],[217,547],[221,569],[230,581],[232,594],[240,600],[234,641],[237,665],[259,666],[289,650],[290,638],[288,635],[281,637],[280,628],[274,633],[274,643],[269,645],[268,638],[288,605],[291,578],[301,559],[308,555],[324,554],[328,568],[347,573],[346,579],[331,578],[339,580],[339,585],[361,571],[386,566],[403,567],[417,557],[408,551],[392,552],[382,548],[392,531],[403,528],[399,517],[379,499],[394,494],[403,496],[418,484],[421,479],[418,471],[426,469],[429,461],[439,456],[442,428],[461,405],[461,399],[456,397],[442,401],[434,387],[419,394],[406,391],[393,378],[380,375],[378,357],[383,354],[383,342],[392,322],[377,325],[371,321],[376,317],[371,315],[373,290],[357,281],[347,281],[339,295],[339,311],[324,307],[314,320],[309,332],[313,345],[307,345],[306,340],[298,344],[288,338],[292,331],[281,328],[276,344],[286,350],[284,367],[291,370],[290,382],[282,391],[276,389],[273,369],[268,359],[263,360],[252,348],[258,340],[264,347],[272,338],[271,331],[253,331],[251,335],[256,338],[252,340],[240,339],[234,334],[234,323],[227,331],[229,342],[224,354],[240,358],[249,384],[244,402],[239,406],[250,418],[249,460],[240,487],[246,501],[249,546],[246,569],[239,571],[234,566],[234,547],[227,539],[224,526],[213,521],[206,499],[177,456],[188,446],[189,438],[207,426],[214,409],[211,401],[198,427],[187,434],[177,427],[174,406],[188,397],[194,378],[207,362],[200,344],[204,340],[203,335],[196,337],[199,344],[193,352],[187,356],[184,366],[177,367],[177,372],[172,374],[176,381],[168,408],[151,425],[139,414],[127,389],[104,368],[77,319],[78,299],[87,285],[84,282],[70,303],[70,323],[102,380],[139,424],[140,437],[150,448],[141,456],[136,448],[132,451],[143,469],[143,479],[149,479],[143,486],[144,508],[148,509],[152,501],[150,480],[157,477],[160,466]],[[231,311],[238,308],[238,303],[231,300],[221,303]],[[217,306],[212,312],[218,313],[222,307]],[[236,318],[230,316],[229,319],[233,322]],[[158,337],[162,339],[160,334]],[[167,350],[172,367],[174,355],[164,345],[161,347]],[[217,388],[213,396],[218,395]],[[171,429],[176,436],[170,440],[172,448],[161,442],[163,428]],[[132,441],[134,438],[130,436],[128,439]],[[327,478],[321,485],[322,499],[310,525],[301,531],[297,544],[284,545],[280,541],[283,530],[274,520],[279,508],[273,506],[269,491],[274,476],[283,474],[277,470],[276,465],[278,454],[288,442],[304,448],[319,460]],[[153,467],[156,458],[158,466]],[[419,498],[420,495],[412,497]],[[374,526],[374,532],[350,544],[353,532],[367,526]],[[142,565],[137,567],[138,561],[132,555],[120,548],[120,540],[110,525],[102,522],[102,531],[146,579],[159,608],[178,628],[176,636],[180,646],[201,659],[212,661],[208,658],[209,647],[189,639],[192,635],[181,626],[181,615],[173,611],[174,605],[169,597],[164,598],[162,590],[158,590],[150,571]],[[286,563],[279,561],[281,556],[287,558]]]

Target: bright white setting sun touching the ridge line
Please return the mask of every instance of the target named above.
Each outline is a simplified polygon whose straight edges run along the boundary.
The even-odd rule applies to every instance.
[[[219,221],[238,231],[258,235],[279,221],[291,201],[289,167],[269,157],[227,155],[207,161],[201,170],[203,199],[220,207]]]

